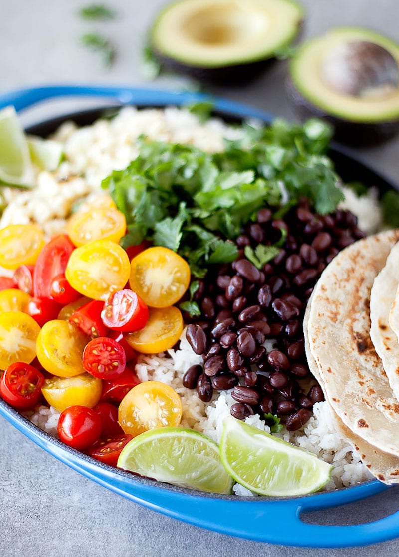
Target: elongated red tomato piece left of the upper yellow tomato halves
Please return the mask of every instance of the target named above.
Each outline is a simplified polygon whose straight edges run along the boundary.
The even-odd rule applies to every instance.
[[[55,236],[48,242],[39,256],[33,273],[33,294],[37,298],[51,298],[52,281],[65,273],[68,259],[75,246],[66,234]]]

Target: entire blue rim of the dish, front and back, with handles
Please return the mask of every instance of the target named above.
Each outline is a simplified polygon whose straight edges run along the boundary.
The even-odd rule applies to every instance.
[[[185,105],[210,100],[215,110],[236,118],[258,118],[265,122],[273,118],[263,110],[199,93],[101,86],[47,86],[12,91],[0,96],[0,109],[11,104],[19,111],[55,97],[90,96],[102,97],[105,101],[111,99],[121,105],[137,106]],[[256,541],[308,547],[365,545],[399,536],[399,511],[375,522],[350,526],[313,525],[302,522],[300,518],[301,512],[342,505],[388,488],[376,480],[351,488],[290,499],[257,497],[254,500],[250,497],[200,494],[174,486],[160,487],[159,482],[136,478],[120,470],[115,472],[115,468],[102,465],[91,457],[66,447],[21,417],[2,400],[0,414],[48,453],[93,481],[150,509],[210,530]],[[272,530],[264,529],[267,517],[275,516],[278,512],[284,514],[284,525],[278,524],[282,521],[273,520]],[[217,524],[209,518],[215,515],[218,516]]]

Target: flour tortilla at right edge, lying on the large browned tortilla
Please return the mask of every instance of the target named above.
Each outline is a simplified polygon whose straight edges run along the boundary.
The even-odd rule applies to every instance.
[[[374,279],[370,294],[370,338],[382,360],[393,394],[399,399],[399,344],[389,322],[395,304],[399,280],[399,243],[392,247],[385,265]],[[395,304],[396,307],[396,304]],[[393,307],[391,322],[395,326],[397,309]]]

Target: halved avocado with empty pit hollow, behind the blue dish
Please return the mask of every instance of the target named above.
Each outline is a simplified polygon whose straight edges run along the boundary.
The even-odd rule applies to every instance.
[[[180,0],[159,14],[150,47],[163,66],[214,82],[242,82],[297,35],[293,0]]]

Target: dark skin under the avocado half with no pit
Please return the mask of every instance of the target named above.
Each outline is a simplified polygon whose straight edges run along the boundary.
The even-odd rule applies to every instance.
[[[239,63],[233,66],[220,66],[205,68],[200,66],[190,66],[169,56],[165,56],[152,48],[152,53],[160,63],[161,69],[175,74],[185,74],[194,79],[212,85],[246,85],[255,80],[277,60],[267,58],[256,62]]]

